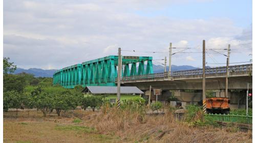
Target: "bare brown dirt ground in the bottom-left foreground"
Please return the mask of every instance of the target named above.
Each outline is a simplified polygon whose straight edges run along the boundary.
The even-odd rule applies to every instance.
[[[83,115],[95,112],[83,111]],[[96,112],[97,114],[97,112]],[[120,142],[114,135],[99,134],[85,120],[76,121],[76,117],[57,117],[51,113],[44,118],[40,111],[19,111],[4,113],[4,142]]]

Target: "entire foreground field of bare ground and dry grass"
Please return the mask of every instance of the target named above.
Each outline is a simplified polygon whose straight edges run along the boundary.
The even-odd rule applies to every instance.
[[[109,110],[74,110],[46,118],[41,112],[4,112],[4,142],[252,142],[252,134],[233,127],[192,127],[170,115],[146,116]]]

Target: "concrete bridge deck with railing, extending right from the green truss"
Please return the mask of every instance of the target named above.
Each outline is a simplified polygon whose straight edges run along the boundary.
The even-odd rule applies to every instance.
[[[252,64],[230,66],[229,71],[229,90],[247,89],[247,83],[252,83]],[[206,90],[225,89],[226,67],[206,69],[205,76]],[[122,77],[121,83],[140,90],[148,90],[150,85],[163,90],[202,90],[202,69],[172,72],[172,76],[166,72]]]

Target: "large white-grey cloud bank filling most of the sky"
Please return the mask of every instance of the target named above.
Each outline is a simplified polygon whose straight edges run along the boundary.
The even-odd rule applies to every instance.
[[[207,2],[199,1],[197,3]],[[19,67],[60,69],[110,54],[116,55],[119,46],[125,50],[163,51],[165,53],[154,54],[122,51],[123,55],[163,59],[168,56],[169,42],[173,43],[173,47],[198,49],[202,47],[202,39],[208,39],[206,43],[212,42],[211,47],[214,48],[218,44],[231,42],[232,47],[250,42],[230,38],[241,34],[243,28],[227,18],[172,19],[165,16],[148,17],[134,12],[162,9],[177,3],[194,1],[158,3],[111,0],[78,3],[5,0],[4,56],[9,56]],[[175,54],[174,58],[185,59],[186,56]]]

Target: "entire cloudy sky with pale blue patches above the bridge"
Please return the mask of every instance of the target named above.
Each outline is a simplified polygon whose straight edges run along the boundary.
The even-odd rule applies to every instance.
[[[225,66],[228,44],[230,65],[249,64],[252,1],[4,0],[4,57],[19,68],[61,69],[118,47],[159,65],[170,42],[172,65],[201,68],[203,40],[206,66]]]

